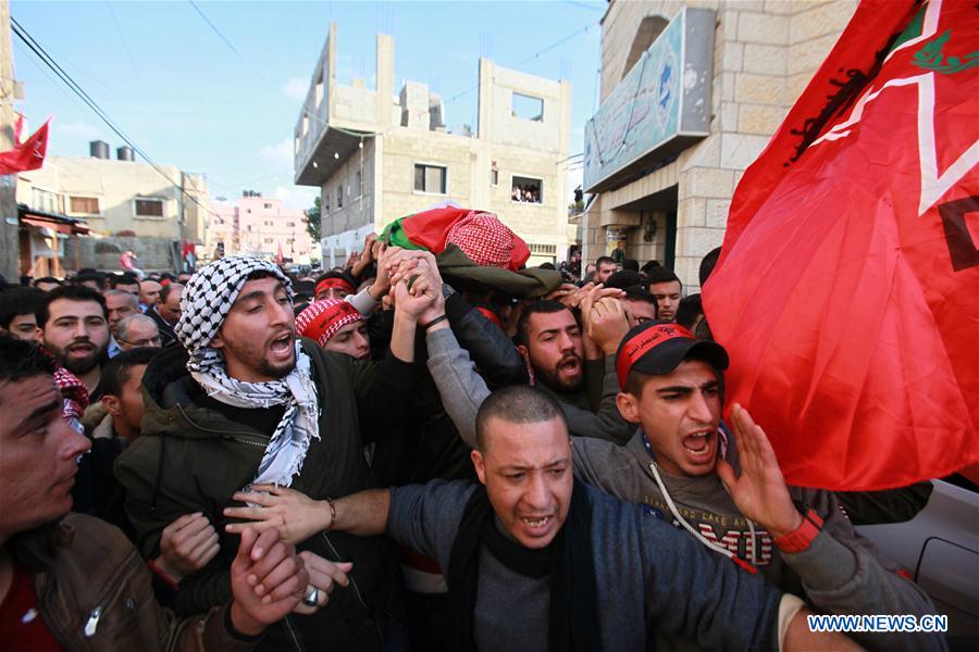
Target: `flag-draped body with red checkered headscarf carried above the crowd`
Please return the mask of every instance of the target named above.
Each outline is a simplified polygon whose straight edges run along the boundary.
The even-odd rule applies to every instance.
[[[495,228],[487,233],[473,226],[473,230],[467,235],[460,223],[464,224],[473,217],[484,218],[484,225],[488,221],[495,224]],[[461,246],[453,241],[447,243],[447,240],[454,238]],[[541,297],[561,284],[559,272],[524,268],[530,259],[526,242],[495,215],[484,211],[444,206],[413,213],[388,224],[380,239],[394,247],[431,251],[435,254],[439,272],[449,279],[478,283],[517,297]],[[509,255],[504,256],[508,260],[495,263],[473,260],[476,251],[499,249],[500,239],[510,247]]]

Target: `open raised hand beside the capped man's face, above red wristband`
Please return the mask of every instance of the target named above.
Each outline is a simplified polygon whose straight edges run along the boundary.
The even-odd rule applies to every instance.
[[[772,538],[791,532],[802,525],[779,461],[765,431],[752,419],[747,410],[734,404],[731,411],[734,442],[741,461],[741,475],[724,460],[717,462],[717,475],[741,513],[768,530]]]

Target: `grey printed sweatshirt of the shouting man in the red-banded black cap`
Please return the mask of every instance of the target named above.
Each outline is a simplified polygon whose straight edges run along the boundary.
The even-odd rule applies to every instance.
[[[443,404],[462,438],[474,447],[475,413],[490,391],[450,330],[431,334],[427,342],[429,369],[442,393]],[[635,432],[624,447],[594,438],[574,437],[573,440],[578,477],[612,496],[647,505],[655,515],[673,521],[649,469],[652,461],[641,432]],[[733,439],[729,441],[728,461],[738,468],[734,443]],[[747,521],[716,474],[680,478],[669,476],[661,468],[659,473],[681,515],[703,536],[733,549],[738,556],[748,562],[754,552],[757,567],[771,582],[782,590],[803,595],[818,611],[833,614],[938,613],[925,591],[899,576],[899,566],[854,531],[832,492],[790,487],[792,498],[815,509],[825,524],[808,549],[786,554],[779,552],[768,532],[758,527],[752,541]],[[668,638],[669,641],[661,641],[666,648],[685,649],[693,643]],[[853,638],[875,649],[940,650],[945,647],[943,637],[938,634],[864,634]]]

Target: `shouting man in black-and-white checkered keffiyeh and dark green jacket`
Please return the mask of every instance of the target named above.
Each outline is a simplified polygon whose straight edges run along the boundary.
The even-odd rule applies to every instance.
[[[371,486],[363,446],[405,418],[399,397],[410,394],[412,361],[355,362],[299,338],[289,279],[253,258],[199,269],[181,310],[174,330],[183,347],[147,368],[141,437],[115,472],[144,554],[154,554],[162,527],[182,514],[202,512],[222,530],[215,559],[177,592],[176,610],[197,612],[228,590],[237,546],[222,510],[235,491],[285,486],[322,499]],[[327,529],[297,548],[310,573],[309,605],[270,628],[261,648],[380,650],[400,616],[384,542]]]

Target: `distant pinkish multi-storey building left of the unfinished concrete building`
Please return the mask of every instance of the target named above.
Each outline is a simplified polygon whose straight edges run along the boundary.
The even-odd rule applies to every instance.
[[[213,256],[223,249],[225,255],[249,254],[308,264],[319,259],[319,247],[306,230],[306,213],[301,209],[283,208],[277,199],[264,198],[246,190],[236,203],[215,202],[214,217],[208,226],[207,253]]]

